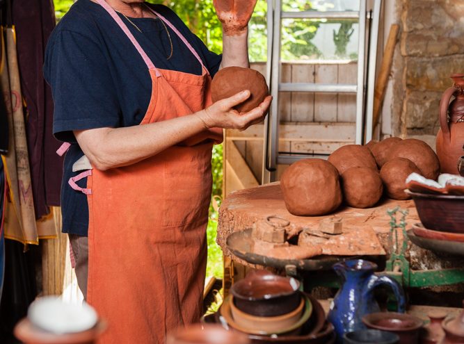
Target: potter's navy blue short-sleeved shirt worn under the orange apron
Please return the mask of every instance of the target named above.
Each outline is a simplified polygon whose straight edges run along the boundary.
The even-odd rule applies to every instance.
[[[162,5],[149,6],[184,35],[214,76],[221,55],[209,51],[172,10]],[[168,59],[170,41],[160,19],[130,18],[140,32],[118,15],[156,67],[202,74],[198,60],[169,27],[173,56]],[[72,165],[83,156],[72,131],[138,125],[150,102],[152,81],[127,35],[102,6],[90,0],[74,3],[51,33],[45,51],[44,76],[51,85],[55,104],[54,135],[72,143],[65,156],[61,185],[63,232],[86,236],[86,195],[67,183],[80,173],[72,172]],[[78,185],[85,188],[86,183],[82,179]]]

